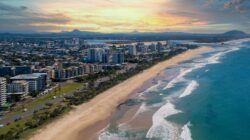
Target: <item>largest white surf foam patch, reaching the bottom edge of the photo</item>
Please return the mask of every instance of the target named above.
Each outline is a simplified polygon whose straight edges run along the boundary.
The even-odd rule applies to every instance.
[[[148,130],[146,138],[176,139],[178,136],[178,127],[165,118],[180,112],[181,111],[175,109],[173,104],[167,102],[153,115],[153,125]]]

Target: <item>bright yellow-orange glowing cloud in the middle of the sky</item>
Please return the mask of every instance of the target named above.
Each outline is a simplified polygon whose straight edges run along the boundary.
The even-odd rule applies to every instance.
[[[170,0],[57,0],[45,2],[44,12],[64,13],[70,18],[66,24],[54,24],[58,31],[86,29],[100,32],[167,31],[207,22],[178,13],[164,13],[173,9]],[[33,26],[45,26],[37,24]],[[48,25],[46,25],[48,26]],[[50,25],[53,26],[53,25]]]

